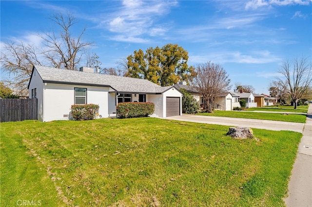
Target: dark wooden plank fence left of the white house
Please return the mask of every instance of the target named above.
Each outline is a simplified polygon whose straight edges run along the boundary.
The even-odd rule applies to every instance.
[[[37,99],[0,99],[0,122],[37,120]]]

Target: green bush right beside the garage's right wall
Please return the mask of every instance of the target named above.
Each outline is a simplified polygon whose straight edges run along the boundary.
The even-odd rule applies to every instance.
[[[186,114],[196,114],[199,112],[199,103],[196,99],[191,95],[191,93],[187,92],[186,89],[179,89],[183,93],[182,97],[182,112]]]

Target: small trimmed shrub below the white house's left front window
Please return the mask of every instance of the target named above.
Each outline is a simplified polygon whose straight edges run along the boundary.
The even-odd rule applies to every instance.
[[[76,104],[72,105],[72,116],[74,120],[93,120],[98,113],[97,104]]]

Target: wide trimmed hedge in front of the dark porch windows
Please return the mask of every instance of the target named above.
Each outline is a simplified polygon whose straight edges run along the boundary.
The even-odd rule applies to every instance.
[[[120,103],[116,108],[118,118],[147,117],[155,111],[155,104],[151,102]]]

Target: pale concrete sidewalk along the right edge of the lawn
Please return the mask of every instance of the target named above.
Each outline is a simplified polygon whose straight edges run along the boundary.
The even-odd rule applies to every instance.
[[[288,183],[287,207],[312,207],[312,104]]]

